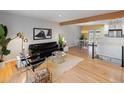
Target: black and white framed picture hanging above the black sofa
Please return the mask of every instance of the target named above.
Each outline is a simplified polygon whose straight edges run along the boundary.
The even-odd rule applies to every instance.
[[[44,40],[52,38],[52,29],[48,28],[34,28],[33,29],[33,39],[34,40]]]

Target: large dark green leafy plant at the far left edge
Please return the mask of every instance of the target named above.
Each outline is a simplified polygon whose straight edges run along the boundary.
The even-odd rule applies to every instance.
[[[0,62],[3,61],[3,56],[10,54],[10,50],[7,49],[7,46],[11,41],[11,38],[6,38],[6,36],[7,27],[3,24],[0,24]]]

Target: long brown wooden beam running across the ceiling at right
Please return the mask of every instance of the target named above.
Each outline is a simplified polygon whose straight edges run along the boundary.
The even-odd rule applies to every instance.
[[[106,13],[106,14],[101,14],[101,15],[96,15],[91,17],[64,21],[64,22],[60,22],[59,24],[72,25],[72,24],[85,23],[85,22],[91,22],[91,21],[111,20],[111,19],[123,18],[123,17],[124,17],[124,10],[121,10],[121,11],[112,12],[112,13]]]

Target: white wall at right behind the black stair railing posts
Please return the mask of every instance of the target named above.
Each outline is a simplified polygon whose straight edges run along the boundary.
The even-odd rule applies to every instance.
[[[122,45],[124,45],[124,38],[104,37],[104,34],[108,34],[108,29],[108,24],[106,24],[103,32],[103,37],[101,38],[99,43],[99,53],[101,55],[121,59],[121,47]]]

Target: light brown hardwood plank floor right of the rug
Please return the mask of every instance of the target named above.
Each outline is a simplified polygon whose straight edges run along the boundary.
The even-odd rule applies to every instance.
[[[88,57],[86,49],[71,48],[69,53],[84,61],[65,72],[56,83],[111,83],[124,82],[124,68]]]

